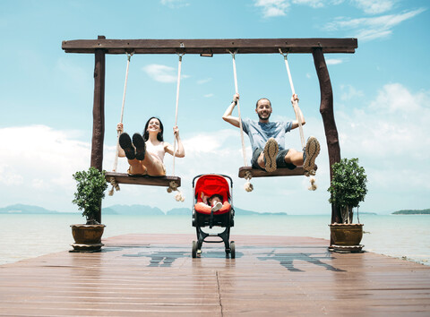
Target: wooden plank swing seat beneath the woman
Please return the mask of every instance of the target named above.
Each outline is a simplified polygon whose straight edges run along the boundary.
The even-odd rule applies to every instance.
[[[169,187],[170,182],[175,182],[177,187],[181,186],[181,177],[177,176],[132,176],[126,173],[106,172],[106,180],[110,182],[114,177],[116,184],[142,184],[151,186],[165,186]]]

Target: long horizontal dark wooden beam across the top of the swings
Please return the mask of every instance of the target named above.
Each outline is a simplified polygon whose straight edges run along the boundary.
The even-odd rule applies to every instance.
[[[354,53],[357,39],[74,39],[64,40],[65,53],[106,54],[279,54],[313,53],[315,47],[323,53]]]

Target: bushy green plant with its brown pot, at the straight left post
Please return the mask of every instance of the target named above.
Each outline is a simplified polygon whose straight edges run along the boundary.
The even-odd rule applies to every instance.
[[[101,200],[105,197],[107,182],[105,171],[99,171],[95,167],[90,167],[88,171],[79,171],[73,174],[76,181],[76,192],[73,203],[82,210],[82,216],[86,218],[84,225],[72,225],[74,238],[74,252],[96,252],[101,249],[101,236],[105,225],[97,221],[97,216],[101,208]]]

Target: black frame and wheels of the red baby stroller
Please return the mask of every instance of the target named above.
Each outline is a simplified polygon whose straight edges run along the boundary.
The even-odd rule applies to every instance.
[[[222,176],[224,178],[228,178],[230,181],[230,194],[228,197],[228,202],[230,203],[230,210],[226,213],[215,215],[213,211],[211,211],[210,215],[202,214],[200,212],[197,212],[194,208],[194,205],[197,203],[197,193],[195,193],[194,190],[194,182],[197,178],[200,178],[202,176]],[[227,182],[228,183],[228,182]],[[196,258],[197,255],[200,255],[202,253],[202,244],[203,242],[208,244],[217,244],[217,243],[224,243],[225,251],[226,251],[226,257],[229,256],[231,259],[236,258],[236,247],[234,241],[229,241],[230,239],[230,227],[234,227],[235,221],[235,210],[233,207],[233,180],[230,176],[222,175],[222,174],[202,174],[195,176],[193,178],[193,227],[195,227],[196,234],[197,234],[197,241],[193,241],[193,249],[192,249],[192,255],[193,258]],[[225,230],[220,232],[219,234],[209,234],[202,230],[202,227],[225,227]],[[207,240],[208,237],[219,237],[220,240]]]

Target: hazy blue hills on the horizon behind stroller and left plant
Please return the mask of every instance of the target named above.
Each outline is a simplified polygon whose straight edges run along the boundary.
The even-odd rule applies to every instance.
[[[81,212],[81,211],[76,211]],[[235,207],[236,216],[287,216],[286,212],[256,212],[252,210],[243,210]],[[39,206],[24,204],[14,204],[0,208],[0,214],[64,214],[56,210],[47,210]],[[70,212],[67,212],[70,213]],[[102,215],[145,215],[145,216],[189,216],[192,214],[189,208],[174,208],[164,212],[157,207],[146,205],[112,205],[101,209]]]

